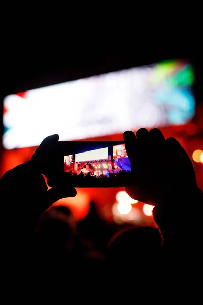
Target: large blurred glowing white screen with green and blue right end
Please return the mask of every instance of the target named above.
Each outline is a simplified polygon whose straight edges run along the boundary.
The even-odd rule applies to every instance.
[[[182,60],[110,72],[8,95],[3,101],[3,146],[60,141],[185,124],[194,115],[193,68]]]

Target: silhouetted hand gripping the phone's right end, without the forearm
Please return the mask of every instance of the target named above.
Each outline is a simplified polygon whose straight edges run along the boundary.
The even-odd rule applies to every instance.
[[[141,128],[136,135],[126,131],[124,140],[133,185],[126,192],[132,198],[158,205],[197,188],[192,162],[176,139],[165,139],[157,128]]]

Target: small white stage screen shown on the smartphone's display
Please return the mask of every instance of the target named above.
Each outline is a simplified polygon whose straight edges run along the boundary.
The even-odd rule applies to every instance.
[[[108,159],[108,147],[85,151],[76,154],[76,162]]]

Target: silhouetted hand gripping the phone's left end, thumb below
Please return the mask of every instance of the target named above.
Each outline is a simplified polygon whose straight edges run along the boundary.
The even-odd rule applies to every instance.
[[[49,190],[42,175],[48,178],[58,164],[58,139],[58,135],[45,138],[30,161],[6,172],[0,180],[7,213],[19,225],[33,224],[57,200],[76,196],[76,190],[69,187],[65,175]]]

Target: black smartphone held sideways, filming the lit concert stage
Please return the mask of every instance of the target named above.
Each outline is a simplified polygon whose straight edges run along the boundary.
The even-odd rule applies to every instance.
[[[131,166],[124,141],[59,141],[60,172],[73,187],[126,187]]]

